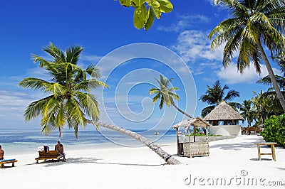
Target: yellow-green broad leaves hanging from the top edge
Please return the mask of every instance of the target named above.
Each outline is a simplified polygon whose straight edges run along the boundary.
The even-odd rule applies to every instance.
[[[133,24],[145,31],[152,26],[155,17],[159,19],[162,13],[170,13],[173,9],[170,0],[120,0],[120,4],[135,8]]]

